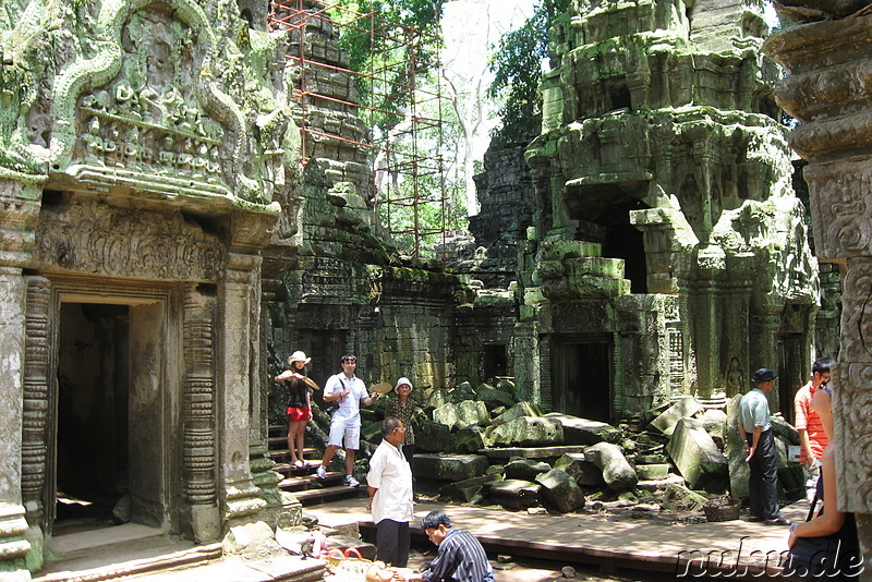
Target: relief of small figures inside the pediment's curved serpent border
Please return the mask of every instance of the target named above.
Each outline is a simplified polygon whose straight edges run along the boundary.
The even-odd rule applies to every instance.
[[[77,97],[75,165],[94,169],[78,175],[123,175],[141,183],[154,175],[185,189],[228,196],[220,160],[226,130],[206,112],[191,78],[207,59],[208,46],[187,23],[170,14],[140,10],[121,34],[118,75]],[[153,185],[154,187],[154,185]]]

